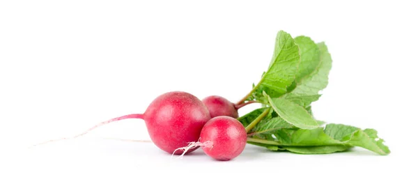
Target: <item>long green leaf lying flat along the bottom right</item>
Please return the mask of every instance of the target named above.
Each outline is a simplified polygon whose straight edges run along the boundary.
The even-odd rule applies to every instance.
[[[366,148],[380,155],[390,153],[389,148],[383,144],[383,139],[378,138],[376,130],[361,130],[341,124],[328,124],[325,129],[314,130],[279,129],[273,133],[260,133],[255,137],[262,139],[256,141],[258,144],[275,145],[295,153],[333,153],[353,146]]]

